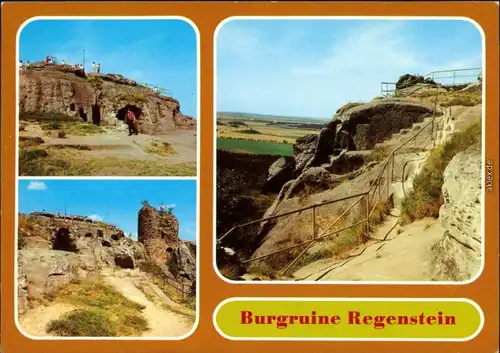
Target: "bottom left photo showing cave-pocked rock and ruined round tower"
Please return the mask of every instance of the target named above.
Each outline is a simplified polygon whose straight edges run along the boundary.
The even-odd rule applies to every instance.
[[[197,322],[197,182],[22,179],[18,329],[182,339]]]

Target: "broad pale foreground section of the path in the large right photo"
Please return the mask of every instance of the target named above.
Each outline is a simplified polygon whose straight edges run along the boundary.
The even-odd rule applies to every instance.
[[[309,281],[431,281],[431,248],[444,229],[434,219],[405,228],[395,223],[389,219],[374,234],[384,241],[359,247],[344,260],[316,261],[295,272],[294,277]]]

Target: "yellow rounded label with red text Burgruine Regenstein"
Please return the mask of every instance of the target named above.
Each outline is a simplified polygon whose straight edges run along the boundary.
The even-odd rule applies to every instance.
[[[467,341],[483,322],[467,299],[231,298],[214,313],[228,339]]]

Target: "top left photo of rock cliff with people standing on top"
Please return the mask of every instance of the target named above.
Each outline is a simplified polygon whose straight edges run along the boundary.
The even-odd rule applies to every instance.
[[[182,17],[24,23],[19,176],[196,176],[198,49]]]

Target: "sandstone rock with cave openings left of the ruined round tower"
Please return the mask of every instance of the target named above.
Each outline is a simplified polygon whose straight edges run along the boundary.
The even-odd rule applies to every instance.
[[[106,268],[135,268],[145,261],[142,244],[123,231],[84,217],[46,213],[19,216],[18,303],[40,299],[75,277]]]

